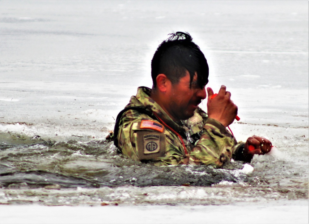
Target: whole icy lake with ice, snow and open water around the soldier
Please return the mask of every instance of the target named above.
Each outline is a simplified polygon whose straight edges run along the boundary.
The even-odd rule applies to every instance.
[[[271,153],[153,167],[105,141],[176,31]],[[308,222],[308,1],[0,1],[0,34],[1,222]]]

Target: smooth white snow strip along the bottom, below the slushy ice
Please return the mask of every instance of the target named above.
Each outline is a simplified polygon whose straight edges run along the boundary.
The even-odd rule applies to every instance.
[[[108,204],[108,203],[106,203]],[[308,202],[236,205],[28,206],[0,205],[1,223],[308,223]],[[17,212],[18,211],[18,212]],[[16,215],[18,213],[18,215]]]

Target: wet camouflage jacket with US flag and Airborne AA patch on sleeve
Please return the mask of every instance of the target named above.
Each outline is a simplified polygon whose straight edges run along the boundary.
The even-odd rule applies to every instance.
[[[125,108],[139,107],[155,116],[130,109],[120,118],[117,140],[124,155],[157,166],[205,164],[221,167],[243,145],[200,108],[188,120],[174,122],[150,98],[150,91],[150,88],[139,87]]]

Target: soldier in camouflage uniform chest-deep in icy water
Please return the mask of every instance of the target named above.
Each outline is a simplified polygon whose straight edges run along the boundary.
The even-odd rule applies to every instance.
[[[271,150],[269,140],[252,136],[237,142],[226,129],[236,115],[231,93],[208,87],[209,68],[188,33],[163,41],[151,61],[152,88],[138,87],[116,119],[114,144],[133,160],[156,166],[204,164],[221,167],[232,158],[250,162]],[[207,93],[206,93],[207,92]],[[198,107],[207,97],[207,114]]]

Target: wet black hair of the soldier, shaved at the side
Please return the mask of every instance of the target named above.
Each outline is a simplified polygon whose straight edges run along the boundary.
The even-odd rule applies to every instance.
[[[151,60],[151,78],[156,87],[156,78],[164,74],[172,84],[184,77],[186,70],[190,73],[190,88],[195,72],[198,85],[203,88],[208,83],[209,68],[207,60],[199,46],[193,41],[189,33],[171,33],[167,40],[157,48]]]

